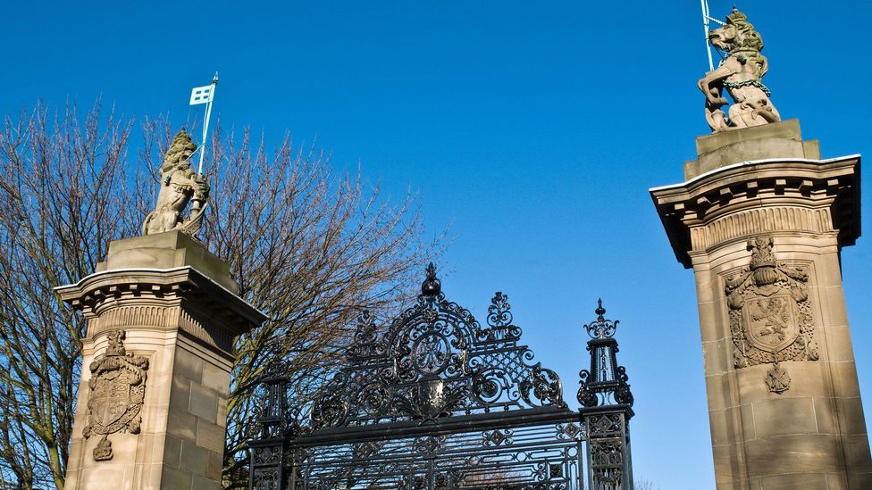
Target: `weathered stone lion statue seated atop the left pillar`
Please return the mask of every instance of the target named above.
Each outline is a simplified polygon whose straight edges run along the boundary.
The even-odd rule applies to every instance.
[[[172,138],[161,165],[161,187],[155,211],[146,216],[142,224],[143,235],[178,229],[194,237],[199,231],[209,198],[209,186],[202,175],[190,168],[189,159],[196,151],[197,145],[184,129]],[[184,217],[182,212],[188,203],[191,204],[189,216]]]

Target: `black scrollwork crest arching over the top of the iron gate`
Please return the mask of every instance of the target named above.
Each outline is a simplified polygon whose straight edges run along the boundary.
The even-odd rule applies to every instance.
[[[360,317],[348,365],[311,404],[311,427],[566,408],[557,374],[532,363],[532,351],[517,344],[521,328],[510,310],[508,296],[498,292],[482,327],[445,299],[431,264],[415,306],[383,333],[368,312]]]

